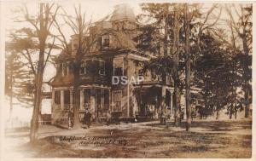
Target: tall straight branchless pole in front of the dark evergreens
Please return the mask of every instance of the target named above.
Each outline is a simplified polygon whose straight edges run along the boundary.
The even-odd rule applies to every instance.
[[[185,22],[185,53],[186,53],[186,114],[187,124],[186,130],[189,131],[191,127],[191,95],[190,95],[190,51],[189,51],[189,6],[185,3],[184,8],[184,22]]]

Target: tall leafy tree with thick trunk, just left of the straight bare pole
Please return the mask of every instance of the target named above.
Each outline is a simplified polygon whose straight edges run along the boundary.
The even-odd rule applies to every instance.
[[[215,9],[214,5],[209,11],[208,15]],[[137,45],[137,49],[144,52],[153,53],[154,56],[159,57],[159,63],[155,63],[155,59],[152,60],[153,64],[158,66],[155,69],[163,68],[162,79],[165,78],[165,73],[172,76],[174,85],[174,106],[175,106],[175,123],[180,124],[180,98],[185,86],[184,71],[187,64],[187,58],[185,49],[192,44],[197,43],[199,39],[198,30],[203,32],[205,29],[214,26],[207,23],[208,16],[205,20],[202,19],[201,5],[193,4],[189,5],[189,18],[185,18],[185,5],[177,3],[143,3],[142,9],[146,14],[141,14],[140,19],[148,18],[150,23],[145,26],[141,26],[139,31],[141,34],[137,37],[140,43]],[[220,15],[220,14],[219,14]],[[147,19],[146,19],[147,20]],[[201,23],[203,21],[203,23]],[[186,27],[187,26],[187,27]],[[188,30],[186,30],[186,28]],[[189,33],[188,33],[189,32]],[[185,37],[184,35],[189,36]],[[167,36],[166,36],[167,35]],[[185,43],[187,42],[187,45]],[[200,42],[200,41],[199,41]],[[194,51],[194,50],[193,50]],[[161,54],[165,54],[166,57]],[[191,60],[196,59],[198,52],[191,52]],[[167,64],[162,64],[162,61],[166,59]],[[168,61],[170,59],[171,61]],[[149,63],[151,60],[149,61]],[[166,72],[165,68],[172,68],[171,71]],[[188,88],[190,89],[190,88]],[[190,96],[189,96],[190,97]]]

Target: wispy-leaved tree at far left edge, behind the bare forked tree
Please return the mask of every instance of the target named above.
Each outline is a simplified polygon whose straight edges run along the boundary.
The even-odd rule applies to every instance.
[[[8,81],[5,86],[9,89],[11,96],[27,107],[33,106],[36,77],[36,61],[33,57],[37,55],[37,43],[32,37],[23,37],[29,32],[31,30],[28,28],[17,30],[9,35],[10,40],[6,43],[6,79]]]

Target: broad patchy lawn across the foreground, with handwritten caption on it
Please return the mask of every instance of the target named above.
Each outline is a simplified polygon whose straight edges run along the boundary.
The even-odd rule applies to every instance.
[[[172,123],[95,125],[91,129],[40,127],[38,145],[15,151],[36,158],[251,158],[252,122],[198,120],[186,132]],[[8,140],[19,136],[8,136]],[[19,139],[20,140],[20,139]]]

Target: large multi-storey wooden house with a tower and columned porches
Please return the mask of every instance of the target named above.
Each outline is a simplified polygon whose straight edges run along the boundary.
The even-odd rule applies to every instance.
[[[109,20],[97,22],[91,32],[114,30],[115,34],[105,34],[98,38],[90,52],[84,55],[79,68],[80,120],[84,109],[89,108],[95,119],[113,118],[131,120],[133,118],[158,118],[162,80],[150,72],[142,73],[138,62],[149,60],[149,55],[137,53],[133,37],[137,25],[132,9],[127,5],[115,7]],[[55,60],[57,74],[52,86],[52,124],[67,124],[70,108],[73,108],[73,70],[70,62],[76,53],[78,38],[71,38],[71,51],[64,52]],[[143,81],[134,83],[133,78],[143,74]],[[125,76],[129,83],[113,84],[113,78]],[[131,81],[133,80],[133,82]],[[166,111],[172,115],[172,79],[167,78]]]

